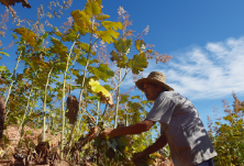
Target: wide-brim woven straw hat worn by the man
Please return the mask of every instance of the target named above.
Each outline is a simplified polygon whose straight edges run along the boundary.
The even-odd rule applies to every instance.
[[[142,78],[138,79],[135,82],[135,86],[141,89],[142,91],[144,91],[144,82],[152,82],[152,84],[156,84],[162,86],[163,88],[165,88],[167,91],[169,90],[174,90],[170,86],[166,85],[166,78],[165,75],[158,71],[152,71],[147,78]]]

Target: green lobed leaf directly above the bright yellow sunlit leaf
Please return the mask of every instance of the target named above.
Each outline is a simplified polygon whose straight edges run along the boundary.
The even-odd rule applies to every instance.
[[[92,73],[97,78],[107,81],[108,78],[114,76],[114,73],[109,68],[108,64],[100,64],[99,67],[89,67],[90,73]]]

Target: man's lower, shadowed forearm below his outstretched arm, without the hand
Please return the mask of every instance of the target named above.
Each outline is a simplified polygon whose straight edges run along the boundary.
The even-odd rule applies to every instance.
[[[146,150],[143,151],[143,154],[146,156],[148,154],[152,154],[158,150],[160,150],[162,147],[164,147],[167,144],[167,139],[165,135],[160,135],[157,141],[148,146]]]

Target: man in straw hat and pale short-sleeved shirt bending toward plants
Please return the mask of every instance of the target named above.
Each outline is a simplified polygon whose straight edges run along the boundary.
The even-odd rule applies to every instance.
[[[143,152],[133,157],[136,163],[166,144],[169,145],[175,166],[213,166],[217,156],[203,123],[195,106],[166,85],[165,76],[152,71],[147,78],[135,82],[144,91],[147,100],[155,101],[153,109],[142,122],[121,129],[107,129],[101,136],[112,139],[124,134],[148,131],[155,122],[160,123],[160,136]]]

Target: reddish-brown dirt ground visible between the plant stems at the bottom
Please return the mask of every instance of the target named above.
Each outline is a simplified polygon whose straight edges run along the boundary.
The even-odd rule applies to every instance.
[[[19,134],[16,135],[18,130],[19,130],[19,126],[10,125],[3,132],[3,134],[10,141],[10,145],[8,147],[4,147],[3,141],[0,142],[0,155],[2,155],[2,153],[5,151],[5,148],[8,148],[8,152],[5,153],[8,158],[0,159],[0,166],[15,166],[15,165],[13,165],[13,163],[16,159],[14,159],[13,155],[16,154],[18,151],[21,151],[20,148],[16,148],[18,143],[20,142],[20,137],[21,137],[21,134],[20,134],[21,131],[19,131]],[[30,126],[25,126],[24,136],[23,136],[24,139],[22,140],[22,146],[25,147],[25,150],[29,150],[29,147],[37,145],[40,143],[40,141],[42,140],[42,132],[43,132],[42,129],[31,129]],[[59,152],[56,150],[59,150],[57,147],[60,144],[60,136],[62,136],[60,133],[53,135],[51,133],[51,131],[46,131],[45,137],[49,142],[49,152],[51,153],[56,152],[59,155]],[[48,164],[48,165],[41,164],[41,165],[42,166],[69,166],[73,164],[65,162],[65,161],[58,161],[55,164],[53,163],[52,165],[51,164]],[[89,164],[87,163],[85,165],[92,166],[91,163],[89,163]],[[20,166],[22,166],[22,165],[20,165]],[[34,166],[34,165],[32,165],[32,166]],[[38,166],[38,165],[35,165],[35,166]],[[154,163],[154,166],[174,166],[174,164],[173,164],[171,159],[166,158],[165,161],[162,161],[160,158],[157,158]]]

